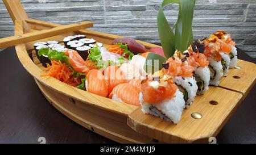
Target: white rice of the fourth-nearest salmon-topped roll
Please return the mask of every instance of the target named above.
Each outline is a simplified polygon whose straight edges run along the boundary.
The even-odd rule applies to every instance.
[[[209,65],[216,71],[214,79],[210,79],[210,85],[218,86],[220,84],[220,78],[223,76],[221,61],[217,62],[210,57],[208,57],[207,60],[209,61]]]

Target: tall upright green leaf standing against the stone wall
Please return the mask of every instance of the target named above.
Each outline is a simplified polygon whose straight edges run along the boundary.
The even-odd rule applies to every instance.
[[[171,28],[163,13],[168,4],[179,4],[179,16],[174,28]],[[192,20],[195,0],[164,0],[158,12],[158,33],[164,55],[171,57],[177,50],[183,52],[192,44]],[[175,32],[175,33],[174,33]]]

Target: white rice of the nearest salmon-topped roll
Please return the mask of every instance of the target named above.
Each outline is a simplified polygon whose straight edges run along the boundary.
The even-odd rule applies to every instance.
[[[140,93],[140,99],[142,98],[142,93]],[[183,99],[183,93],[177,89],[175,97],[172,99],[164,100],[158,104],[142,103],[142,112],[144,114],[158,116],[164,120],[177,124],[180,122],[184,107],[185,101]]]

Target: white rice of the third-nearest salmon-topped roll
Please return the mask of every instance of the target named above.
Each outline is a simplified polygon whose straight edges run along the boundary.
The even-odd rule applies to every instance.
[[[196,76],[200,77],[204,81],[204,89],[203,90],[197,90],[198,95],[203,95],[205,91],[209,89],[209,82],[210,82],[210,70],[208,66],[205,66],[205,68],[195,68],[194,69]]]

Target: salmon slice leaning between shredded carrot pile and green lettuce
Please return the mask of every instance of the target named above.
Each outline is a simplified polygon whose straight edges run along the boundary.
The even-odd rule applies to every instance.
[[[89,72],[90,69],[87,63],[82,59],[78,52],[72,49],[66,49],[64,53],[69,57],[68,61],[76,72],[82,72],[85,74]]]

